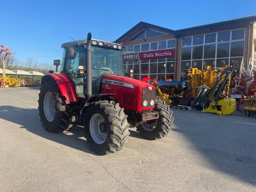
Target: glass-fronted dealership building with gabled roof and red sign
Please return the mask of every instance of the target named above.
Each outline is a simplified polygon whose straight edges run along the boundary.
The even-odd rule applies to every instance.
[[[206,65],[247,68],[256,65],[256,15],[180,30],[139,22],[115,42],[123,45],[124,70],[137,79],[179,81]]]

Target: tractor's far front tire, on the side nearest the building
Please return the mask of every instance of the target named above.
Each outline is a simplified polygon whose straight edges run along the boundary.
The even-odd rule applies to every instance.
[[[174,125],[173,111],[165,101],[156,100],[154,110],[159,112],[159,118],[142,123],[137,127],[141,136],[149,140],[165,137]]]

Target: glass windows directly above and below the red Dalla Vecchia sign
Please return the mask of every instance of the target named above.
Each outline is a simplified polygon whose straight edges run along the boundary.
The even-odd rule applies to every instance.
[[[175,39],[167,39],[164,41],[125,46],[123,47],[123,51],[133,49],[135,52],[144,52],[174,48]],[[136,79],[142,79],[143,77],[157,78],[158,81],[165,81],[170,78],[174,79],[174,58],[140,60],[138,63],[137,61],[125,61],[125,73],[129,73],[131,69],[134,74],[133,78]]]

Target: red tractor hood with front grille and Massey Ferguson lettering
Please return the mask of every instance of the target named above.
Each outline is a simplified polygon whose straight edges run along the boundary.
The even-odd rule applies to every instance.
[[[113,97],[118,101],[120,107],[125,109],[133,111],[154,109],[154,103],[151,105],[150,101],[156,99],[155,87],[137,79],[103,74],[101,93],[115,94]],[[143,106],[142,101],[145,100],[148,104]]]

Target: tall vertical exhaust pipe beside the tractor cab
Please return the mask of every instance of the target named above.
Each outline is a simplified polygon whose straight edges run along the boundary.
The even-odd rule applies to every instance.
[[[86,94],[92,94],[92,34],[87,34],[87,62],[86,62]]]

